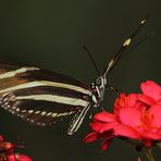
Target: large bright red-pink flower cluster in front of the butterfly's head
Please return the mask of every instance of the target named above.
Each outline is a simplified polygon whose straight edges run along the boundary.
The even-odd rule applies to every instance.
[[[146,147],[161,139],[161,86],[148,81],[140,88],[143,94],[121,94],[113,113],[97,113],[90,124],[95,132],[87,135],[85,141],[102,138],[104,150],[114,137],[138,139]]]

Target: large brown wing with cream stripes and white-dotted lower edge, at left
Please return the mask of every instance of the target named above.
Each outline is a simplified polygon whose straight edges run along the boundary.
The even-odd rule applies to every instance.
[[[51,125],[89,106],[89,88],[33,66],[0,63],[0,106],[37,125]]]

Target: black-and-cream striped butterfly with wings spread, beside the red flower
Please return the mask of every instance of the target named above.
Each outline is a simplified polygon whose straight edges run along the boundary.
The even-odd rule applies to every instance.
[[[67,132],[72,135],[79,128],[89,108],[99,107],[109,87],[107,75],[146,20],[147,16],[140,21],[91,86],[38,67],[0,62],[0,107],[40,126],[74,114]]]

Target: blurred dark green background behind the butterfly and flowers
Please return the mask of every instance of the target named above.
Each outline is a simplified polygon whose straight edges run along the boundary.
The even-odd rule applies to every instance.
[[[102,71],[123,40],[147,13],[147,25],[133,41],[137,44],[151,30],[153,35],[125,55],[110,75],[110,82],[125,92],[139,91],[147,79],[161,81],[161,2],[158,0],[5,0],[0,1],[0,58],[55,71],[90,84],[96,71],[83,50],[86,45]],[[106,95],[104,107],[112,100]],[[101,143],[85,145],[89,121],[74,136],[69,123],[51,128],[29,123],[0,110],[0,134],[8,140],[25,141],[22,151],[34,161],[136,161],[135,149],[115,139],[109,150]],[[158,160],[159,150],[154,149]]]

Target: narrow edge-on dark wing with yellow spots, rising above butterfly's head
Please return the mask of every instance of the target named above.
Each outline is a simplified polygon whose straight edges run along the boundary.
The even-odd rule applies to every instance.
[[[139,23],[138,27],[134,30],[134,33],[123,42],[122,47],[117,51],[114,58],[111,59],[111,61],[108,63],[108,66],[106,67],[102,76],[106,77],[107,74],[114,67],[116,62],[120,60],[121,55],[124,53],[124,51],[127,49],[127,47],[131,45],[134,37],[138,34],[140,28],[146,24],[148,17],[150,14],[147,14]]]

